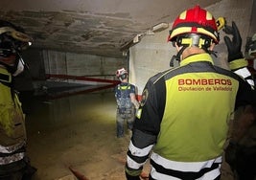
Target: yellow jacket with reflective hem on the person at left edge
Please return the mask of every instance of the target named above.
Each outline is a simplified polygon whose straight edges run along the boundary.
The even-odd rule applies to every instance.
[[[21,102],[12,90],[10,73],[0,68],[0,164],[9,164],[24,157],[26,145],[25,117]],[[4,83],[2,83],[4,82]]]

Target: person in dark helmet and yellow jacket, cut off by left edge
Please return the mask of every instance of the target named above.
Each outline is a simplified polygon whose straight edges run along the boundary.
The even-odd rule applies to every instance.
[[[0,179],[29,180],[35,168],[26,155],[25,115],[12,79],[24,69],[20,53],[32,38],[0,20]]]

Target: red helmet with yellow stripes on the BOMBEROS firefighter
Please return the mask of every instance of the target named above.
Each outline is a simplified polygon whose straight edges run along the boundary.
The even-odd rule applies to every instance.
[[[206,35],[216,44],[220,41],[215,18],[209,11],[205,11],[199,6],[180,13],[175,19],[168,41],[175,41],[177,36],[184,34]]]

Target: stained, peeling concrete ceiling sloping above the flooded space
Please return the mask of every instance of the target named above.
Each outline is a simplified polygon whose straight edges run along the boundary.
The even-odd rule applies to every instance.
[[[0,0],[0,18],[34,38],[32,48],[121,57],[136,34],[146,33],[195,5],[221,0]]]

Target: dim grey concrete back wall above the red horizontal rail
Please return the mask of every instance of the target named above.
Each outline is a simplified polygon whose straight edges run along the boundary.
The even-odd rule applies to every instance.
[[[126,58],[43,51],[46,74],[72,76],[113,76],[127,67]]]

